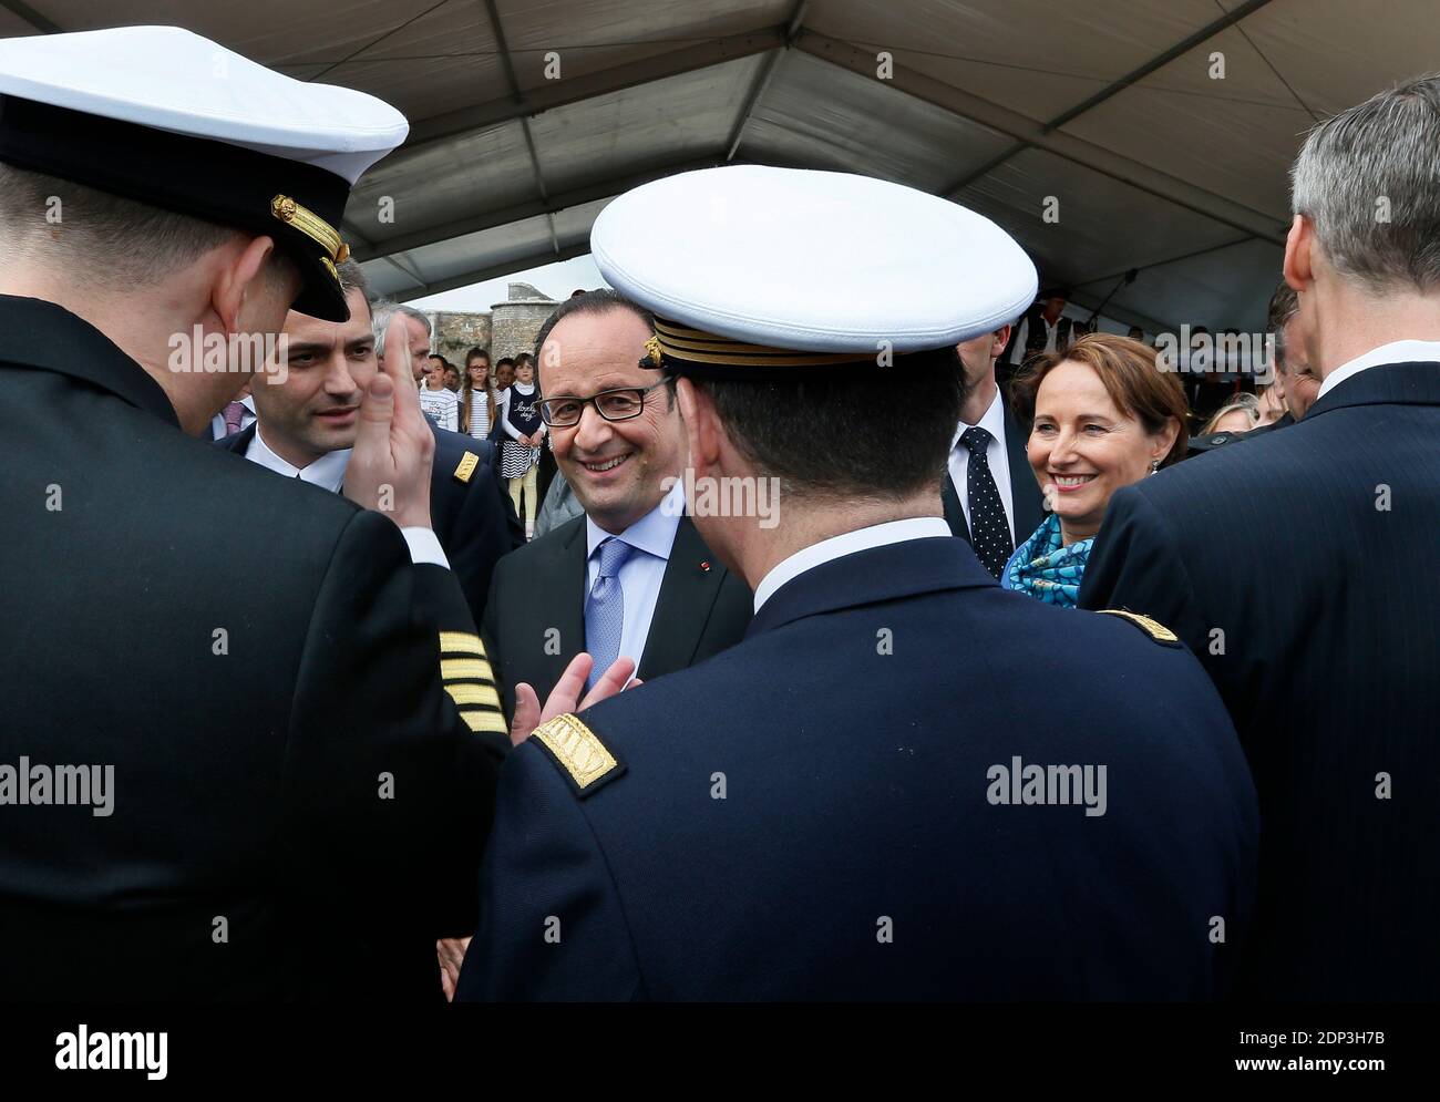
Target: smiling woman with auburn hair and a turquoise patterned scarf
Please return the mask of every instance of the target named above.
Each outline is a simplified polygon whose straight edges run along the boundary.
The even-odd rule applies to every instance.
[[[1110,497],[1184,458],[1185,389],[1155,349],[1089,333],[1032,360],[1011,403],[1031,426],[1025,451],[1050,514],[1005,563],[1001,585],[1074,608]]]

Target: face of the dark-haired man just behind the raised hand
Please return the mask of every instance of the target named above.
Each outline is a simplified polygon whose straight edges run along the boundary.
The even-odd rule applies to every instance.
[[[348,321],[291,311],[285,318],[285,382],[271,382],[278,373],[256,376],[255,412],[265,442],[297,467],[356,442],[360,398],[377,362],[364,292],[350,291],[346,301]]]

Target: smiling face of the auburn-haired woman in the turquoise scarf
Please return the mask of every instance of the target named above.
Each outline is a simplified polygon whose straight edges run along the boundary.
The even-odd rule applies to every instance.
[[[1064,360],[1051,369],[1035,393],[1025,449],[1066,543],[1096,534],[1115,491],[1149,474],[1178,434],[1178,425],[1148,432],[1089,364]]]

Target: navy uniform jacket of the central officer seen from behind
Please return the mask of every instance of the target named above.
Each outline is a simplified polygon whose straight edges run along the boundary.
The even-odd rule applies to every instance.
[[[1017,758],[1106,766],[1104,814],[991,802]],[[541,727],[497,801],[472,1000],[1211,998],[1257,828],[1184,647],[953,537],[789,581],[739,645]]]

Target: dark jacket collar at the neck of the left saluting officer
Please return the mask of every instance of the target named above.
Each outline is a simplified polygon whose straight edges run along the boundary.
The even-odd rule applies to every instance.
[[[160,383],[91,323],[55,303],[0,295],[0,363],[81,379],[180,428]]]

